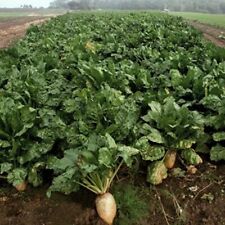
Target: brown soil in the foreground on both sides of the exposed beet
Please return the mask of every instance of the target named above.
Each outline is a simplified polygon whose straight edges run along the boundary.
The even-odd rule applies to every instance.
[[[195,175],[169,176],[150,188],[139,174],[134,180],[149,201],[149,216],[136,225],[224,225],[224,171],[224,165],[205,164]],[[95,196],[88,191],[53,194],[51,199],[45,192],[43,187],[29,187],[22,194],[9,187],[0,189],[0,224],[104,225],[94,209]]]

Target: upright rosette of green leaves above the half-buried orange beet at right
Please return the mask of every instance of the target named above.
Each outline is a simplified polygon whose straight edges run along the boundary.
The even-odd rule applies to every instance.
[[[181,141],[197,141],[203,130],[203,120],[198,112],[180,107],[172,97],[166,98],[163,105],[153,101],[149,107],[151,110],[142,118],[148,123],[143,127],[143,134],[149,133],[147,137],[151,142],[176,147]]]

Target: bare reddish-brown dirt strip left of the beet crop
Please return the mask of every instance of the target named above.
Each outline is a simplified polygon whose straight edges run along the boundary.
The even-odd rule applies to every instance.
[[[0,22],[0,48],[8,47],[13,41],[22,37],[30,25],[43,23],[48,18],[20,18],[12,21]]]

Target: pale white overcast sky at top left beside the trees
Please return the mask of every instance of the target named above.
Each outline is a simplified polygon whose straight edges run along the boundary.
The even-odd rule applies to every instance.
[[[48,7],[49,3],[52,0],[0,0],[0,8],[7,7],[7,8],[14,8],[20,7],[20,5],[28,4],[35,7]]]

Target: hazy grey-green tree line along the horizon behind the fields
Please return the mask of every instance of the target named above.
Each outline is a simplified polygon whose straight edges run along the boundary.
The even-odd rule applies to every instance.
[[[66,9],[168,9],[171,11],[225,13],[225,0],[54,0],[51,8]]]

